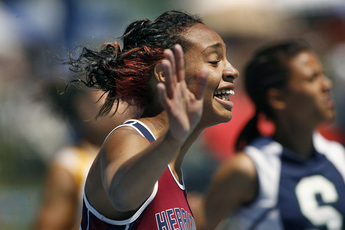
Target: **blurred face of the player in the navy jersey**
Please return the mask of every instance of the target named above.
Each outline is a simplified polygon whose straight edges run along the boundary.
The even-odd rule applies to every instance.
[[[299,123],[317,126],[335,116],[331,99],[332,82],[317,56],[310,51],[300,52],[290,59],[290,78],[286,90],[288,113]]]

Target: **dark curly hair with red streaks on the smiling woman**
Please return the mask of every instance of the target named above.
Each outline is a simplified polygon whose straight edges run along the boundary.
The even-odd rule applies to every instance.
[[[180,44],[188,50],[189,44],[183,36],[190,26],[203,23],[196,15],[170,10],[157,17],[134,21],[126,28],[121,50],[117,42],[105,43],[100,50],[83,47],[75,59],[73,51],[65,64],[70,70],[79,73],[78,79],[70,82],[83,82],[90,88],[108,93],[97,117],[108,115],[119,101],[135,105],[142,114],[145,106],[152,102],[153,93],[149,86],[152,68],[164,59],[164,49]]]

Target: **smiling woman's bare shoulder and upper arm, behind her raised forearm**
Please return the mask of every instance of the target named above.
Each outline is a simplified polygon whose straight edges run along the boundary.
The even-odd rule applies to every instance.
[[[117,211],[109,200],[106,188],[119,167],[149,145],[145,137],[128,126],[117,128],[107,137],[86,180],[85,192],[92,207],[111,219],[126,219],[134,214],[124,217],[127,213]]]

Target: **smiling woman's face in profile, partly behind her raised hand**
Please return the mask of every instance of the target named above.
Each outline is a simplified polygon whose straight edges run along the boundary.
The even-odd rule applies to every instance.
[[[239,73],[226,59],[226,45],[217,32],[204,24],[196,24],[186,32],[191,43],[185,51],[186,82],[191,90],[201,68],[209,72],[204,94],[204,113],[201,122],[205,126],[228,122],[232,117],[234,80]]]

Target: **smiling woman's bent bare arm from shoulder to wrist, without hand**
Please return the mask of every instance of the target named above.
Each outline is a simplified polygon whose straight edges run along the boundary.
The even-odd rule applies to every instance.
[[[107,138],[86,181],[86,195],[94,207],[120,215],[141,207],[180,148],[169,133],[157,136],[150,144],[135,129],[124,126]]]

